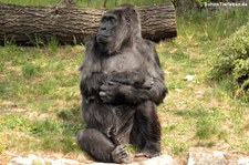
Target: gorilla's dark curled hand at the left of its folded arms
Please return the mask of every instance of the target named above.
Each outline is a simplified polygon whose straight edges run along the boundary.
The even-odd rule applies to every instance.
[[[116,101],[118,89],[122,84],[116,82],[108,82],[101,86],[100,96],[104,103],[114,103]]]

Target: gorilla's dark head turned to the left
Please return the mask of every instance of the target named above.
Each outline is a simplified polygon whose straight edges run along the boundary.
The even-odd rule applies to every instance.
[[[101,19],[96,41],[102,52],[118,52],[141,38],[141,23],[136,9],[126,4],[107,11]]]

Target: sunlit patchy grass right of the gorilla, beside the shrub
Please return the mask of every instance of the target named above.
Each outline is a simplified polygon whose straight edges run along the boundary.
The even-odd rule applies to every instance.
[[[248,14],[238,10],[178,17],[178,38],[157,45],[170,92],[159,109],[167,152],[179,155],[191,146],[227,145],[226,149],[249,151],[247,103],[231,97],[227,81],[208,79],[216,48],[248,21]],[[188,74],[195,79],[185,81]]]

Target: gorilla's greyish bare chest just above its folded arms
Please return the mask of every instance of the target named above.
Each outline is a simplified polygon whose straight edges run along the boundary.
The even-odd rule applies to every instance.
[[[137,70],[142,66],[141,54],[125,53],[108,56],[102,61],[102,71],[104,73],[124,72]]]

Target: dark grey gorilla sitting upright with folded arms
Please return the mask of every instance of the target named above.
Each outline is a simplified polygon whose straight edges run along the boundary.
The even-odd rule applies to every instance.
[[[167,94],[155,45],[142,38],[133,6],[107,11],[97,34],[86,43],[81,66],[82,110],[86,127],[77,135],[96,161],[127,163],[124,144],[138,156],[160,154],[156,105]]]

